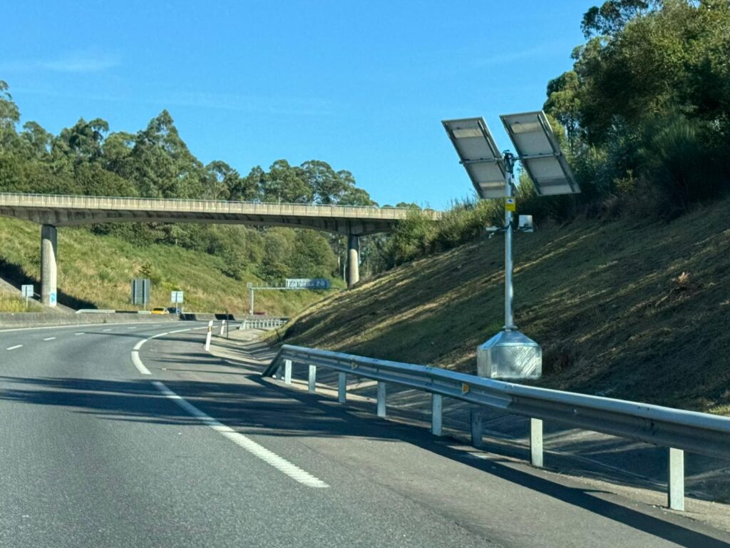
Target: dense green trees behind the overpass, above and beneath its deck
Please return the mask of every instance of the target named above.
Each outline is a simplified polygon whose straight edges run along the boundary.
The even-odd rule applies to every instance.
[[[225,161],[204,165],[166,110],[134,134],[110,132],[101,118],[81,119],[58,135],[34,121],[20,126],[18,105],[1,80],[0,191],[374,205],[352,173],[325,161],[292,166],[277,160],[268,171],[256,166],[247,175]],[[341,237],[312,230],[196,224],[99,224],[91,230],[138,245],[207,251],[225,259],[226,275],[242,279],[250,273],[272,282],[338,275],[345,252]]]

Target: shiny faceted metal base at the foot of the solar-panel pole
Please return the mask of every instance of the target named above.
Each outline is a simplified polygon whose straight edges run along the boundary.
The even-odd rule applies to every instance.
[[[500,331],[477,346],[477,375],[488,378],[540,378],[542,349],[519,331]]]

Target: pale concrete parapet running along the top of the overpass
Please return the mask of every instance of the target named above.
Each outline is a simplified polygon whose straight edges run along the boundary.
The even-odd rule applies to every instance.
[[[0,205],[18,208],[67,208],[74,210],[153,210],[177,213],[245,213],[266,216],[373,218],[385,221],[405,218],[408,212],[405,208],[377,208],[359,205],[74,196],[69,194],[19,194],[12,192],[0,193]],[[440,212],[434,210],[424,210],[424,212],[434,220],[440,218]]]

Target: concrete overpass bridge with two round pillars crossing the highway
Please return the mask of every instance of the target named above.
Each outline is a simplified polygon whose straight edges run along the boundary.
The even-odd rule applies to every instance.
[[[427,210],[436,221],[441,214]],[[308,228],[347,236],[347,285],[360,278],[359,237],[389,232],[403,208],[223,202],[202,199],[59,196],[0,193],[0,216],[41,225],[41,295],[55,306],[58,227],[109,222],[216,223]]]

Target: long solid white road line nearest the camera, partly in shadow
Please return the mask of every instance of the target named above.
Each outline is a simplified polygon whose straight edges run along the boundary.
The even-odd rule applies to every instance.
[[[222,422],[218,422],[213,419],[212,416],[204,414],[203,411],[196,406],[193,406],[193,404],[188,402],[188,400],[185,400],[185,398],[172,392],[172,390],[166,387],[164,383],[161,383],[160,381],[152,381],[152,384],[154,384],[155,388],[162,392],[166,397],[169,397],[174,401],[174,403],[177,403],[178,406],[185,409],[185,411],[188,411],[189,414],[194,416],[204,425],[210,426],[216,432],[225,435],[226,438],[234,442],[234,444],[246,449],[247,452],[250,452],[250,454],[260,458],[264,461],[264,463],[272,465],[278,471],[285,473],[291,479],[294,479],[307,487],[318,487],[320,489],[323,487],[329,487],[329,485],[321,479],[312,476],[312,474],[302,470],[299,466],[290,463],[285,458],[269,451],[266,447],[257,444],[251,438],[247,438],[242,433],[236,432],[236,430],[224,425]]]

